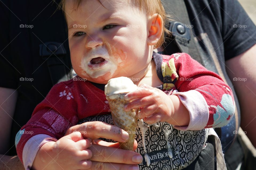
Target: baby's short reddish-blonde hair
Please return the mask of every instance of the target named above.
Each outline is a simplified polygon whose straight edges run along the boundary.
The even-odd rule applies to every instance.
[[[165,35],[170,36],[171,32],[165,28],[165,24],[168,19],[171,17],[166,14],[165,8],[163,7],[161,0],[131,0],[133,3],[139,7],[139,10],[142,11],[145,10],[147,12],[147,16],[153,15],[153,14],[158,14],[162,17],[163,19],[163,33],[161,35],[161,38],[158,40],[157,44],[154,45],[154,48],[160,47],[164,42],[165,42]],[[100,0],[98,0],[99,3],[101,3]],[[74,0],[74,7],[75,10],[78,9],[78,7],[81,5],[82,0]],[[101,3],[102,5],[102,3]],[[59,7],[62,8],[63,12],[65,9],[65,0],[61,0]],[[65,12],[64,12],[65,15]],[[66,16],[65,16],[66,18]],[[156,22],[156,21],[155,21]]]

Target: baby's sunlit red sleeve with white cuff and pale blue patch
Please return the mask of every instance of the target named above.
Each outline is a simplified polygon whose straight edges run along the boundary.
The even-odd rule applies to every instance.
[[[175,54],[175,67],[179,76],[175,87],[179,92],[173,95],[178,95],[190,114],[188,126],[175,128],[200,130],[225,126],[235,112],[231,88],[189,54]]]

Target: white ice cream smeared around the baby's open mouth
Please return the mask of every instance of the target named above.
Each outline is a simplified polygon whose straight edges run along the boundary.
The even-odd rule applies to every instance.
[[[120,54],[116,49],[107,50],[107,47],[109,47],[107,43],[96,46],[82,58],[80,67],[84,71],[82,73],[84,76],[89,75],[91,78],[98,78],[110,73],[110,77],[112,77],[117,66],[127,58],[126,53]]]

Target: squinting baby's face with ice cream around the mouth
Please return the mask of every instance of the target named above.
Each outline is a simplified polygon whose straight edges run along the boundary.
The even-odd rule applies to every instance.
[[[140,74],[151,61],[147,16],[129,1],[82,1],[75,11],[66,0],[69,48],[75,72],[106,84],[114,77]],[[142,77],[139,77],[142,78]]]

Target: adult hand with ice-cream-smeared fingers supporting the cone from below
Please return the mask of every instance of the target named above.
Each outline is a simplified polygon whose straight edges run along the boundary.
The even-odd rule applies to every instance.
[[[94,121],[85,122],[81,125],[75,125],[69,128],[65,135],[74,131],[79,131],[83,138],[91,139],[91,167],[89,169],[139,169],[138,165],[142,162],[142,156],[134,151],[119,149],[119,143],[111,143],[99,140],[98,138],[112,139],[118,142],[124,142],[129,138],[129,134],[117,126],[106,124],[104,122]],[[137,148],[137,142],[134,142],[134,150]]]

